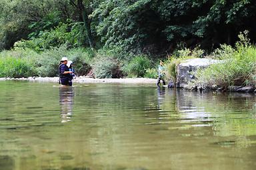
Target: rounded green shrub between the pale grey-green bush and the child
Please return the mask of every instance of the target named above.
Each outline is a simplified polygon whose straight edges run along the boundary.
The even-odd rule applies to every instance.
[[[143,77],[146,70],[151,67],[151,61],[145,55],[137,55],[131,61],[124,65],[123,71],[128,77]]]

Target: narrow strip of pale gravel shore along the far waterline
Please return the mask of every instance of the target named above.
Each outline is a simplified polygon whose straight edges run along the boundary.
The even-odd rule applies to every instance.
[[[38,81],[38,82],[59,82],[59,77],[28,77],[28,78],[0,78],[0,81],[18,80],[18,81]],[[84,76],[76,77],[73,83],[157,83],[157,79],[148,78],[123,78],[123,79],[93,79]]]

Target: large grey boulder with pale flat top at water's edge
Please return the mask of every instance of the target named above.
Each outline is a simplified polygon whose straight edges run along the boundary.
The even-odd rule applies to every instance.
[[[183,63],[180,63],[177,66],[177,87],[183,88],[186,87],[187,84],[195,79],[195,77],[191,74],[193,71],[197,69],[204,69],[209,65],[214,63],[220,63],[222,61],[217,59],[187,59]]]

